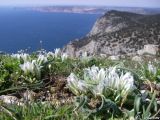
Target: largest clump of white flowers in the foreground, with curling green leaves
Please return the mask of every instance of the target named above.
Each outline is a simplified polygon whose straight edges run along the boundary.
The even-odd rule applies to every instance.
[[[131,73],[119,75],[116,67],[108,69],[93,66],[84,69],[83,80],[71,73],[67,79],[68,87],[76,95],[92,93],[94,96],[109,94],[108,91],[119,91],[120,94],[127,95],[134,87],[134,78]]]

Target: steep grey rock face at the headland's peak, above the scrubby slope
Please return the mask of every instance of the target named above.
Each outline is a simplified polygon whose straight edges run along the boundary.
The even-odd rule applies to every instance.
[[[136,21],[135,18],[139,18],[140,16],[141,15],[133,13],[123,14],[118,11],[109,11],[96,21],[89,35],[91,36],[98,33],[104,34],[119,31],[122,28],[128,27],[132,21]]]

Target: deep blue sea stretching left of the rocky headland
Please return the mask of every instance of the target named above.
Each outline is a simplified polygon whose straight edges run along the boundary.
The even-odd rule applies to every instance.
[[[100,15],[0,8],[0,51],[53,51],[85,36]]]

